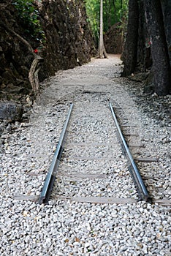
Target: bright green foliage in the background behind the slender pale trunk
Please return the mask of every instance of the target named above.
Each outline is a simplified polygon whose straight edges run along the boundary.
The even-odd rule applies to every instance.
[[[94,37],[99,39],[100,0],[86,0],[86,11]],[[113,24],[125,22],[128,13],[128,0],[103,0],[104,33]]]

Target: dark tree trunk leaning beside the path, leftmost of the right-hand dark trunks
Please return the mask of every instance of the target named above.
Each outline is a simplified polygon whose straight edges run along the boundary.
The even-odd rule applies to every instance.
[[[138,39],[138,3],[129,0],[129,20],[127,26],[126,42],[123,50],[123,72],[127,76],[134,72],[137,64],[137,39]]]

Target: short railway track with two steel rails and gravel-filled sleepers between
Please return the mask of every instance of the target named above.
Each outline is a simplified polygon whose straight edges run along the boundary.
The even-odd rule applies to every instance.
[[[86,110],[85,116],[79,113],[77,106],[73,107],[71,104],[45,184],[39,195],[39,203],[48,203],[50,198],[91,203],[129,203],[136,200],[150,200],[140,171],[121,132],[113,104],[105,106],[107,116],[102,116],[98,110],[99,106],[95,108],[91,103],[89,113]],[[81,121],[80,116],[82,116]],[[91,123],[87,123],[88,118],[91,118]],[[110,118],[109,123],[108,118]],[[72,124],[69,124],[70,122]],[[105,130],[102,129],[104,127],[102,123],[105,124]],[[111,127],[108,131],[109,125]],[[123,125],[128,124],[125,122]],[[120,146],[117,145],[118,141]],[[118,167],[118,162],[121,167]],[[124,190],[122,183],[126,179],[130,188],[129,192],[125,193],[122,192],[122,189]],[[96,181],[100,185],[96,186]],[[118,191],[120,188],[121,197],[113,197],[115,190]]]

